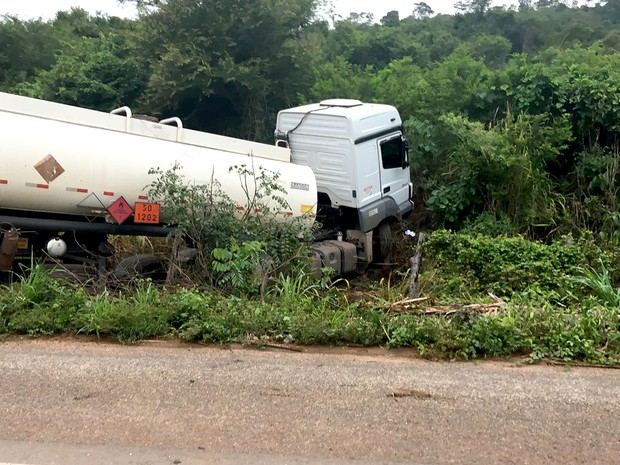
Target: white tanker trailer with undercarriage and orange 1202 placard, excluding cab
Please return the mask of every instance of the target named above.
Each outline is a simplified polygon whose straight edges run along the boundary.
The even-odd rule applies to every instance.
[[[278,173],[288,216],[314,212],[312,170],[291,163],[289,150],[191,131],[177,118],[153,122],[132,118],[129,108],[107,114],[0,93],[0,128],[0,226],[20,231],[17,256],[25,259],[100,268],[113,253],[110,234],[169,234],[146,189],[155,167],[177,165],[196,184],[215,178],[242,204],[238,174],[229,168],[254,160]]]

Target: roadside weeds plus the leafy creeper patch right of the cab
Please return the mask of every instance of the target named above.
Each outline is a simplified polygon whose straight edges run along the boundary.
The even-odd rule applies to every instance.
[[[564,250],[554,245],[547,250],[540,244],[511,240],[509,245],[502,245],[498,243],[502,239],[496,239],[495,244],[486,239],[472,242],[471,237],[454,238],[446,233],[439,239],[435,247],[441,244],[442,248],[434,257],[438,260],[423,275],[423,289],[431,291],[428,297],[435,302],[453,302],[459,296],[467,298],[467,303],[484,302],[486,292],[476,293],[476,289],[501,290],[494,277],[506,285],[515,281],[502,273],[520,270],[523,281],[505,288],[507,304],[490,314],[425,314],[423,308],[405,314],[388,312],[388,304],[406,295],[406,274],[393,273],[364,290],[351,290],[348,282],[346,287],[334,285],[327,275],[317,281],[299,270],[279,274],[262,299],[218,291],[166,289],[148,280],[137,281],[123,291],[89,295],[35,267],[15,284],[0,287],[0,334],[69,332],[123,343],[166,337],[220,344],[288,341],[386,345],[410,347],[430,358],[525,355],[531,361],[553,358],[620,364],[620,292],[602,255],[594,260],[595,269],[585,262],[583,247],[575,250],[566,245],[569,250]],[[462,241],[473,246],[465,249]],[[449,256],[454,258],[447,262]],[[489,258],[490,268],[475,269],[470,257]],[[582,263],[573,266],[576,257]],[[551,271],[537,268],[543,259],[563,264],[560,279],[570,283],[569,289],[545,285]],[[541,275],[531,274],[530,268],[538,269]],[[479,271],[473,273],[475,270]],[[459,273],[462,281],[477,283],[478,287],[465,288],[467,293],[460,294],[437,292],[438,283],[457,282]],[[528,276],[530,281],[526,281]]]

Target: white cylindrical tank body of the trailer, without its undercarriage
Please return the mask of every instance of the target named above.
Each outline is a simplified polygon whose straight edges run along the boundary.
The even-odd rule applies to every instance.
[[[239,206],[245,206],[247,195],[231,167],[277,173],[290,206],[282,213],[314,213],[316,181],[306,166],[162,139],[158,131],[176,129],[157,123],[142,121],[139,132],[129,125],[124,130],[124,124],[122,116],[0,93],[0,209],[102,215],[120,196],[132,206],[152,201],[148,190],[156,175],[149,170],[166,171],[178,164],[186,182],[216,180]],[[246,181],[252,191],[252,179]]]

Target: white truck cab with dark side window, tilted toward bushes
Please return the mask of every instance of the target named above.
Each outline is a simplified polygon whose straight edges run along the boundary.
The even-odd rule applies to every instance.
[[[293,163],[312,168],[319,221],[338,209],[341,226],[368,232],[413,208],[408,143],[396,108],[324,100],[280,111],[275,134]]]

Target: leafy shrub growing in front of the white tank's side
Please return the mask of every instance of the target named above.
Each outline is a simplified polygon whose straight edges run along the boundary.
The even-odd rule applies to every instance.
[[[158,178],[150,196],[163,204],[177,237],[197,249],[197,282],[243,295],[262,293],[272,273],[308,264],[309,225],[282,213],[289,206],[277,173],[252,164],[231,167],[244,195],[238,206],[217,180],[196,185],[180,169],[151,170]]]

